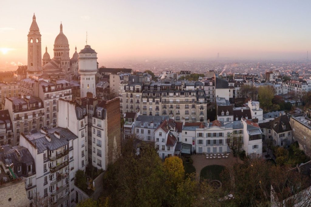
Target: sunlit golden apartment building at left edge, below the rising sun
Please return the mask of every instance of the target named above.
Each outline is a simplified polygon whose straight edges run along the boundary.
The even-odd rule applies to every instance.
[[[16,97],[20,94],[20,82],[0,83],[0,109],[4,109],[5,98]]]

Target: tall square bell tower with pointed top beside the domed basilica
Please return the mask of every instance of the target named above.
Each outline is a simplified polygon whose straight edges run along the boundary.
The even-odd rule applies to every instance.
[[[28,33],[28,68],[27,78],[40,78],[43,74],[41,56],[41,34],[36,22],[36,16],[32,17],[32,23]]]

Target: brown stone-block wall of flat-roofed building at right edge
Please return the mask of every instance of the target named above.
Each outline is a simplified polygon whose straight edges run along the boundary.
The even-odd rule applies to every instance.
[[[299,148],[304,150],[305,154],[311,156],[311,128],[298,122],[294,118],[290,118],[290,126],[293,129],[293,139],[298,141]],[[306,139],[304,139],[304,136]]]

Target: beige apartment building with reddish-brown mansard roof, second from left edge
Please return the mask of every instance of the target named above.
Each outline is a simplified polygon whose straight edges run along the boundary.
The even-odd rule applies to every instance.
[[[14,135],[14,139],[10,141],[10,144],[13,146],[19,145],[21,133],[27,135],[33,129],[40,130],[44,127],[44,106],[38,97],[7,97],[5,109],[11,117],[13,132],[10,137]]]

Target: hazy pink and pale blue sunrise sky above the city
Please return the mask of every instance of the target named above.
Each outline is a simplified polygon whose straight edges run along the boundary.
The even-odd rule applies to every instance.
[[[86,44],[98,62],[145,59],[302,60],[311,51],[311,1],[2,1],[0,70],[27,65],[33,13],[52,58],[60,22],[70,56]]]

